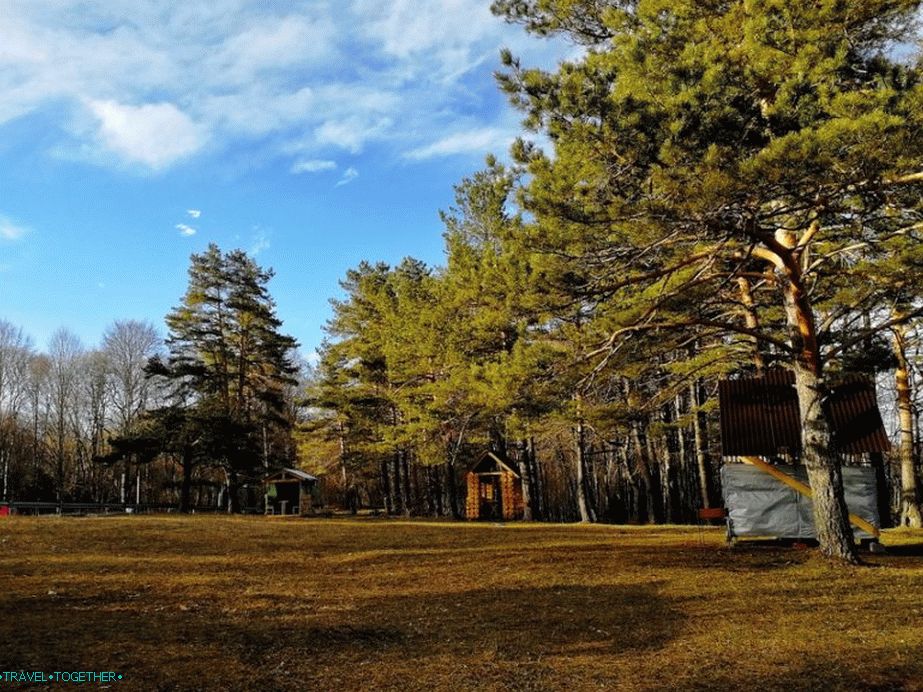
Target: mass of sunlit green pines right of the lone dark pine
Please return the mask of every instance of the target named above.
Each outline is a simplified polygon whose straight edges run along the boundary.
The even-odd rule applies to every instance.
[[[445,267],[343,281],[313,401],[344,496],[457,515],[458,467],[489,447],[535,515],[685,520],[717,501],[716,380],[784,367],[822,550],[856,559],[823,407],[851,373],[893,378],[919,525],[918,6],[496,0],[582,50],[503,53],[547,144],[458,185]]]

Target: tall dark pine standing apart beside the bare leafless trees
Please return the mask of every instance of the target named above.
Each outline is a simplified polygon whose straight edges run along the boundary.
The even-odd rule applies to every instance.
[[[292,461],[285,397],[297,342],[280,331],[272,276],[241,250],[209,245],[192,255],[186,294],[166,318],[170,355],[159,374],[203,426],[204,449],[227,474],[229,511],[241,473]]]

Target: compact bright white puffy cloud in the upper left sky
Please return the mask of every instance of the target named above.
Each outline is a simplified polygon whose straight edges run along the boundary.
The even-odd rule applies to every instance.
[[[172,103],[126,106],[115,101],[90,101],[99,119],[99,137],[126,161],[153,169],[194,154],[206,134]]]

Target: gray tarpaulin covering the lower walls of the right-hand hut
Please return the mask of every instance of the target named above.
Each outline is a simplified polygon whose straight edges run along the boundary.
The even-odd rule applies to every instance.
[[[779,471],[808,483],[801,466],[777,466]],[[849,511],[876,527],[881,526],[875,503],[875,470],[843,467],[843,486]],[[749,464],[725,464],[721,468],[724,506],[728,510],[728,533],[736,536],[814,538],[811,499]],[[872,538],[853,527],[857,539]]]

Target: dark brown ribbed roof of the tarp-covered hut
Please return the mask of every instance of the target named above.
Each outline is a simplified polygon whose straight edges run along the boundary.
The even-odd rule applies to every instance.
[[[801,415],[795,375],[790,370],[770,370],[763,377],[721,380],[723,456],[767,456],[801,451]],[[885,452],[891,447],[875,386],[863,377],[851,377],[832,388],[824,402],[833,427],[834,444],[843,454]]]

